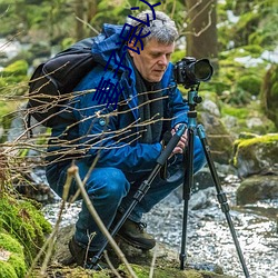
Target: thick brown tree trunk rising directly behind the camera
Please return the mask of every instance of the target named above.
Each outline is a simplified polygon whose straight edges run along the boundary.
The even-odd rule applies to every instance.
[[[208,58],[218,66],[217,0],[186,0],[188,10],[187,56]]]

